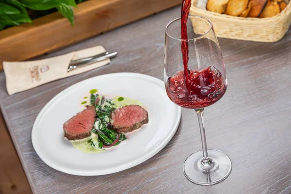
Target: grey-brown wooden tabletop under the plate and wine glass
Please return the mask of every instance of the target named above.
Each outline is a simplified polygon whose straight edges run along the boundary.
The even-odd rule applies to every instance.
[[[230,176],[214,186],[198,186],[182,172],[184,160],[201,149],[194,111],[182,110],[177,133],[162,151],[128,170],[81,177],[58,172],[32,147],[33,122],[49,100],[68,86],[113,72],[163,78],[164,27],[176,7],[99,35],[45,57],[103,45],[118,51],[111,65],[8,96],[0,73],[0,106],[35,194],[290,194],[291,193],[291,30],[276,43],[219,39],[229,86],[205,111],[209,148],[232,160]],[[52,121],[53,122],[53,121]]]

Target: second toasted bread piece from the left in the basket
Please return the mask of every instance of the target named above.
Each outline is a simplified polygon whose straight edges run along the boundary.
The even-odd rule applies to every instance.
[[[229,0],[226,6],[226,14],[239,16],[246,9],[249,0]]]

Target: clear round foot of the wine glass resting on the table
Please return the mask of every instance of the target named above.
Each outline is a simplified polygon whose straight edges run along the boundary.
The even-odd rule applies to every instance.
[[[202,165],[202,150],[191,154],[184,162],[185,177],[198,185],[214,185],[225,180],[231,172],[229,157],[215,149],[208,150],[210,166]]]

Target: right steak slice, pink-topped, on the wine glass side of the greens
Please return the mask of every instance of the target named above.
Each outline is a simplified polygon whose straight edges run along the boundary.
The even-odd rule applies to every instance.
[[[146,110],[138,105],[124,106],[111,113],[112,127],[118,133],[127,133],[139,129],[148,122]]]

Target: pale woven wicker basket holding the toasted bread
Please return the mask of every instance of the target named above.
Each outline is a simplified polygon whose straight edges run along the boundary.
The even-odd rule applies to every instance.
[[[217,37],[256,42],[276,42],[283,38],[291,23],[291,2],[278,15],[269,18],[228,16],[195,7],[190,15],[205,16],[212,21]]]

